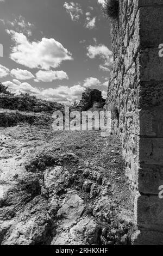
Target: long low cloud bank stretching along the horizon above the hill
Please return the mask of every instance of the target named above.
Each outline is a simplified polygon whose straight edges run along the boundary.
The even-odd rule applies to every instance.
[[[84,92],[84,88],[80,85],[77,86],[58,86],[57,88],[40,89],[31,86],[29,83],[21,83],[18,80],[6,81],[3,83],[8,89],[15,94],[29,93],[35,95],[40,99],[49,101],[58,101],[61,103],[73,102],[78,100]]]

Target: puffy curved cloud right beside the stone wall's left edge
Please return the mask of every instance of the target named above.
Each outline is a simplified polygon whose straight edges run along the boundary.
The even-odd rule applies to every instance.
[[[110,51],[109,48],[103,44],[95,46],[89,45],[87,47],[87,56],[91,59],[94,59],[96,57],[102,59],[104,61],[104,64],[99,66],[99,68],[103,67],[103,70],[104,66],[107,68],[108,66],[111,66],[113,62],[112,51]]]

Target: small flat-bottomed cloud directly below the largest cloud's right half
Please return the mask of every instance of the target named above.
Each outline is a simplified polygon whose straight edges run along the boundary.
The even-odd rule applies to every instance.
[[[64,71],[42,71],[36,73],[36,81],[35,82],[52,82],[53,80],[63,80],[68,79],[66,72]]]

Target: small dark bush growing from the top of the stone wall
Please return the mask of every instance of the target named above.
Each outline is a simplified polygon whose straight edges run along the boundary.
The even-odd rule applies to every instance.
[[[102,12],[106,17],[116,19],[118,16],[119,2],[118,0],[106,0],[102,8]]]

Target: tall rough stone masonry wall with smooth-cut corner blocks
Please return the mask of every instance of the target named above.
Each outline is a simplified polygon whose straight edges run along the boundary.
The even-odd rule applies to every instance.
[[[163,0],[119,0],[112,20],[114,64],[106,108],[122,138],[137,232],[135,244],[163,245]]]

